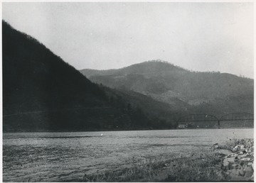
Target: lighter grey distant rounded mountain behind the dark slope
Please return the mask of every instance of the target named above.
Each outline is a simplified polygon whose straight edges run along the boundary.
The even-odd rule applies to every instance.
[[[92,82],[133,90],[189,113],[253,113],[253,79],[220,72],[190,72],[159,60],[119,70],[81,70]]]

